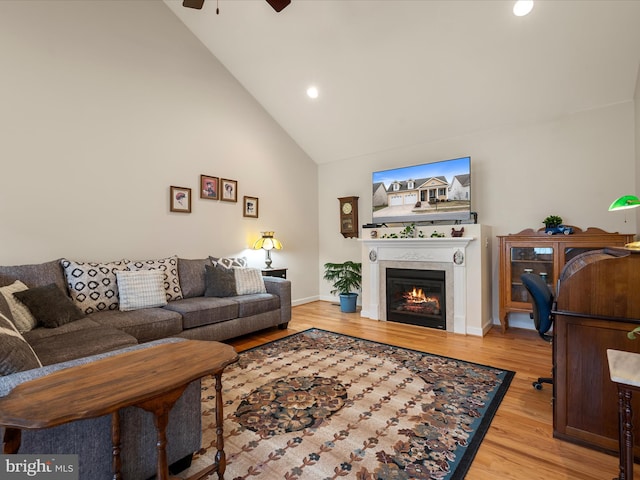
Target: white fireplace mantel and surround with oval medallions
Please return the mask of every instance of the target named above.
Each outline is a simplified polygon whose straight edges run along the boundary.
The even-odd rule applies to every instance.
[[[489,236],[473,227],[463,237],[362,239],[361,316],[386,320],[387,268],[444,270],[447,331],[484,335],[491,325],[490,288],[487,294],[483,284]]]

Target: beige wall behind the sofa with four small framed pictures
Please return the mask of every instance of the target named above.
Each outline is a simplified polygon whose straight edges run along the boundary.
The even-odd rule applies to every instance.
[[[318,292],[317,167],[162,2],[0,2],[0,264],[250,257]],[[200,174],[239,202],[199,198]],[[169,212],[169,186],[193,189]],[[242,196],[260,199],[258,219]]]

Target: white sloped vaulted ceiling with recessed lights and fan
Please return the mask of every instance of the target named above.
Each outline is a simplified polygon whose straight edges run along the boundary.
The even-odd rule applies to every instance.
[[[637,0],[165,3],[319,164],[630,101],[640,62]]]

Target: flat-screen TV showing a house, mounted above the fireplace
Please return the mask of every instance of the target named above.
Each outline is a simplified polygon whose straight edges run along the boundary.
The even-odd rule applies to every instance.
[[[373,172],[373,223],[469,220],[471,157]]]

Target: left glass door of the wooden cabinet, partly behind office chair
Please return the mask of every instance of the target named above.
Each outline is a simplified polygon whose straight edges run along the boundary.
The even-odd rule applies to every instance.
[[[553,283],[553,247],[511,247],[511,301],[530,303],[529,294],[522,284],[523,273],[535,273]]]

